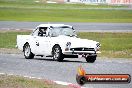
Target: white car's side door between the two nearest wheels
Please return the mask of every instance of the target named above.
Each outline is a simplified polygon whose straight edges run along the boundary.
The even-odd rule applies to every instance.
[[[45,29],[46,27],[41,27],[42,29]],[[40,28],[38,28],[40,30]],[[37,33],[34,33],[33,36],[33,43],[34,43],[34,49],[33,51],[35,52],[36,55],[49,55],[51,54],[51,51],[49,50],[50,47],[50,37],[47,34],[48,28],[46,28],[46,34],[38,34],[40,33],[37,31]],[[44,33],[44,30],[41,30]]]

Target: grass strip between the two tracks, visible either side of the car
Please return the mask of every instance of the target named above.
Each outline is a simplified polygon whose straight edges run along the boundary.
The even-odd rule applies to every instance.
[[[0,48],[15,48],[18,34],[30,33],[0,32]],[[79,32],[78,36],[100,42],[99,56],[132,58],[132,33]]]

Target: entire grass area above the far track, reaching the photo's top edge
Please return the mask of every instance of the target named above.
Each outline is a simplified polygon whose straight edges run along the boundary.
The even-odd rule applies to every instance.
[[[94,8],[98,8],[99,10]],[[126,6],[45,4],[35,3],[34,0],[0,0],[0,20],[43,22],[132,22],[132,10],[102,10],[101,8],[126,8]]]

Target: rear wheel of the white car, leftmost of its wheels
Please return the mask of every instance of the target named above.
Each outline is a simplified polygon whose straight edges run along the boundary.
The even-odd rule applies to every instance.
[[[31,48],[30,45],[28,43],[26,43],[24,45],[24,56],[26,59],[33,59],[34,58],[34,54],[31,52]]]

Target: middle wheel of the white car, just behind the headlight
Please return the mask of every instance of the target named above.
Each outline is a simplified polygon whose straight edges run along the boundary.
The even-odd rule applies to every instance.
[[[55,45],[52,49],[52,55],[53,55],[53,59],[55,61],[63,61],[64,59],[64,55],[62,53],[61,47],[59,45]]]

